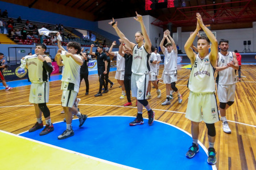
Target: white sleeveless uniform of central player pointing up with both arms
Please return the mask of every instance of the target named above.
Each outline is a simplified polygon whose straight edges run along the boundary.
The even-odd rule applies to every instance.
[[[150,66],[148,59],[150,54],[144,48],[144,44],[139,48],[138,44],[133,47],[133,64],[131,65],[131,95],[137,100],[146,98],[148,76]]]

